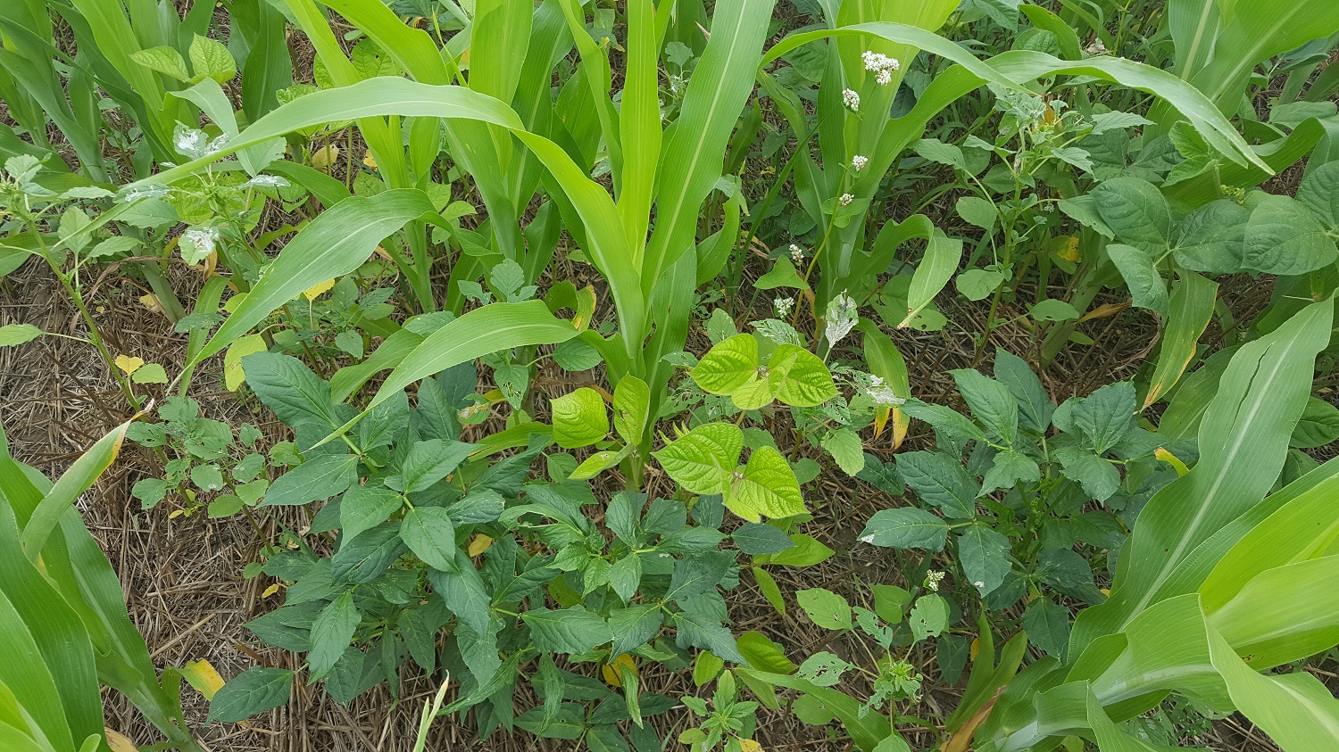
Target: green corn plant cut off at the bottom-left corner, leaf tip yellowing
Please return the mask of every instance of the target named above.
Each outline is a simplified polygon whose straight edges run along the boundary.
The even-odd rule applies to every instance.
[[[0,432],[0,618],[13,641],[0,668],[11,712],[5,748],[110,752],[99,685],[125,694],[167,737],[195,752],[174,685],[154,670],[111,562],[84,527],[76,499],[111,464],[129,424],[100,439],[56,483],[9,456]]]

